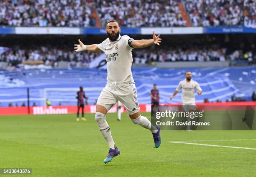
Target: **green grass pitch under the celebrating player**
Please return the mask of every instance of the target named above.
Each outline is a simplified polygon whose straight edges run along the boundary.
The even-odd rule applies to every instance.
[[[150,131],[127,114],[118,122],[112,113],[107,121],[120,156],[103,164],[108,144],[94,114],[85,117],[0,116],[0,168],[32,169],[32,175],[18,177],[256,177],[256,150],[169,142],[255,139],[255,131],[162,131],[162,144],[154,148]],[[256,140],[198,143],[256,148]]]

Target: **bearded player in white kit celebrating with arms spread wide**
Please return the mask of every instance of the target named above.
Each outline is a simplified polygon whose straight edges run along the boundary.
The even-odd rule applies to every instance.
[[[113,157],[120,154],[120,151],[115,146],[111,136],[110,127],[106,121],[106,114],[110,108],[115,105],[118,100],[124,105],[132,122],[141,125],[151,131],[154,138],[155,147],[161,144],[160,128],[151,125],[148,118],[140,113],[140,107],[137,100],[137,91],[133,75],[131,72],[131,65],[133,57],[131,50],[133,48],[144,48],[151,45],[160,45],[160,35],[156,36],[153,31],[153,39],[149,40],[133,40],[128,35],[120,35],[120,27],[118,22],[110,20],[106,25],[106,32],[108,38],[100,44],[84,45],[80,40],[79,44],[75,44],[75,51],[81,52],[89,50],[91,52],[104,52],[108,76],[107,84],[100,93],[97,100],[95,120],[99,126],[100,132],[109,145],[108,156],[103,161],[110,162]]]

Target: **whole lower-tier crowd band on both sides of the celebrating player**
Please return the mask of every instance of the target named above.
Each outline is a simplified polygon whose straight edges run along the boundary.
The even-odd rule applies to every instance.
[[[49,50],[51,48],[51,50]],[[161,50],[151,48],[133,50],[133,62],[136,64],[150,64],[151,62],[174,62],[174,61],[225,61],[243,60],[248,64],[256,61],[256,52],[252,50],[230,50],[217,47],[165,47]],[[35,48],[20,49],[14,46],[13,49],[0,55],[0,61],[9,63],[20,63],[22,61],[44,61],[45,65],[58,66],[59,61],[70,62],[70,67],[87,67],[89,63],[99,56],[99,52],[73,52],[69,48],[58,49],[53,46],[41,46]]]

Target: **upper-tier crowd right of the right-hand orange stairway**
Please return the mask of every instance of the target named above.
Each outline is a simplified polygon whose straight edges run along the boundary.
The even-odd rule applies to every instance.
[[[255,0],[186,0],[193,26],[256,27]]]

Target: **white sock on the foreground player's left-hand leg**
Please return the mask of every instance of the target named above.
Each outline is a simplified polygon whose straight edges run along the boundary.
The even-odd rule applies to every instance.
[[[95,120],[97,121],[99,125],[99,129],[105,140],[108,142],[109,148],[115,149],[115,143],[113,141],[113,138],[111,136],[110,127],[108,126],[108,123],[106,121],[106,115],[102,114],[101,112],[96,112],[95,114]]]

